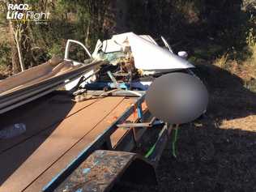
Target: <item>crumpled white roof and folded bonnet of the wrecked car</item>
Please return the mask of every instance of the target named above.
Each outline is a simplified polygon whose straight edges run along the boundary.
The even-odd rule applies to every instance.
[[[184,58],[157,45],[151,36],[137,36],[133,32],[98,41],[92,57],[107,58],[113,65],[117,64],[118,59],[130,59],[134,67],[142,71],[142,75],[194,68]]]

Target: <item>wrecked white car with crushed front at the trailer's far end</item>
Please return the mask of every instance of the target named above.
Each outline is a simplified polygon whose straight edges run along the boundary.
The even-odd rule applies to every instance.
[[[179,70],[190,73],[194,66],[182,57],[187,56],[186,52],[179,53],[178,56],[173,53],[163,37],[162,40],[166,48],[160,47],[151,36],[138,36],[133,32],[114,35],[105,41],[98,40],[92,55],[87,49],[86,51],[91,58],[105,60],[109,64],[102,66],[96,75],[92,75],[89,79],[90,87],[93,81],[96,87],[115,88],[117,83],[122,81],[122,88],[147,90],[152,80],[160,75]],[[69,45],[66,47],[66,53],[69,51],[68,47]],[[117,83],[109,83],[109,80],[113,82],[113,79]],[[70,90],[76,83],[78,82],[69,83],[66,89]],[[81,87],[90,88],[88,86],[86,82],[81,83]]]

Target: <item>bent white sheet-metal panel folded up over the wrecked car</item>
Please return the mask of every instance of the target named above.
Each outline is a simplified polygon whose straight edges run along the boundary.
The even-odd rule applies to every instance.
[[[157,45],[151,36],[138,36],[133,32],[114,35],[103,41],[101,50],[107,54],[123,52],[126,46],[130,46],[134,66],[139,70],[159,73],[194,68],[190,62]]]

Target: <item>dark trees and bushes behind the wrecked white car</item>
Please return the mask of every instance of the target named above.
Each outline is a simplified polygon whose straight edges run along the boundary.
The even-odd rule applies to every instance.
[[[150,34],[156,39],[164,36],[174,50],[188,51],[194,62],[206,59],[208,62],[232,60],[238,65],[255,63],[256,11],[250,0],[23,2],[32,4],[36,11],[50,12],[48,24],[28,22],[23,26],[22,50],[27,68],[45,62],[54,54],[63,55],[67,39],[83,42],[92,52],[97,39],[130,31]],[[2,3],[0,29],[10,31],[5,6]],[[11,57],[15,57],[11,56],[10,34],[1,35],[1,66],[10,66]],[[230,65],[220,66],[228,69]]]

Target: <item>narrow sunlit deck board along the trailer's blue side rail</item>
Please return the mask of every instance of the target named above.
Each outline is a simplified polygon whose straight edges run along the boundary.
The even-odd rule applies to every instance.
[[[25,190],[26,192],[33,192],[41,190],[45,185],[49,183],[58,173],[65,169],[66,166],[75,159],[76,156],[79,155],[79,152],[82,151],[88,143],[92,143],[97,136],[102,134],[104,130],[106,130],[111,124],[116,121],[117,117],[122,115],[126,111],[127,108],[130,107],[131,104],[135,102],[137,98],[125,99],[114,109],[107,117],[104,118],[90,133],[88,133],[83,139],[79,141],[74,147],[67,151],[65,155],[63,155],[58,162],[53,164],[50,169],[47,169],[45,173],[38,177],[36,181],[32,183],[31,186]],[[117,130],[118,132],[118,130]],[[119,134],[123,134],[123,132],[119,132]],[[116,133],[117,135],[117,133]],[[122,135],[119,135],[121,138]]]

